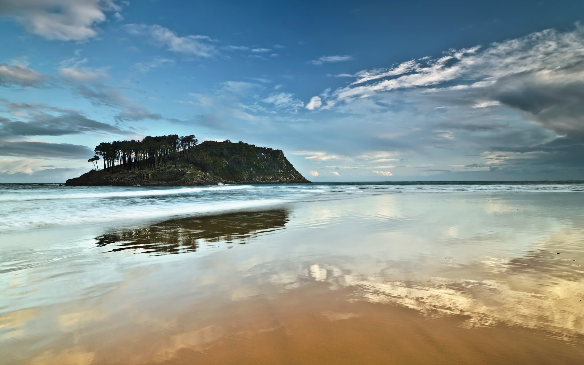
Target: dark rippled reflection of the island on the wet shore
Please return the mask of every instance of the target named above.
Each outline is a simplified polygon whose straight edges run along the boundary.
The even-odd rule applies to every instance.
[[[217,242],[246,244],[249,239],[283,229],[288,220],[286,209],[207,215],[163,221],[135,230],[110,232],[95,240],[98,247],[112,248],[107,252],[131,249],[136,253],[167,255],[195,252],[201,245]]]

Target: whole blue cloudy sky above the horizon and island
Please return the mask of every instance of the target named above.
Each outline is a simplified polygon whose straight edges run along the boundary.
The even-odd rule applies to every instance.
[[[583,1],[0,0],[0,182],[195,134],[312,181],[584,179]]]

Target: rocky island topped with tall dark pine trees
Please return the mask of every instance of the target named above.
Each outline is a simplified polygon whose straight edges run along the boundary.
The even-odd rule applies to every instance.
[[[93,169],[67,186],[201,186],[310,183],[281,150],[242,141],[204,141],[176,134],[102,142]],[[102,165],[103,164],[103,165]],[[100,169],[100,166],[103,166]]]

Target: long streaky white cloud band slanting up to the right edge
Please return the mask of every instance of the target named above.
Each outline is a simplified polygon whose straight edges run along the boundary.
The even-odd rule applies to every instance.
[[[537,69],[554,69],[573,64],[584,57],[584,29],[577,26],[571,32],[548,29],[526,37],[447,51],[443,57],[423,57],[402,62],[390,69],[371,69],[357,72],[351,85],[338,89],[339,99],[366,98],[375,93],[458,82],[429,91],[488,88],[508,75]],[[370,83],[382,78],[385,80]],[[468,84],[469,80],[474,81]],[[367,84],[369,83],[369,84]],[[358,84],[366,84],[359,85]],[[493,106],[481,100],[477,107]]]

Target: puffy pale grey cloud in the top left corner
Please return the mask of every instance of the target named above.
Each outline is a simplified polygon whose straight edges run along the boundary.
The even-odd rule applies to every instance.
[[[97,36],[116,0],[0,0],[0,15],[16,19],[27,32],[49,40],[83,41]]]

